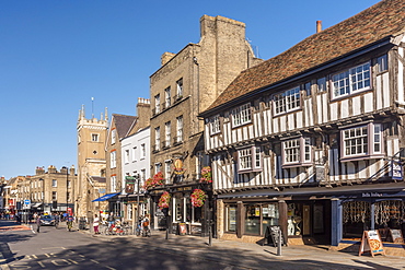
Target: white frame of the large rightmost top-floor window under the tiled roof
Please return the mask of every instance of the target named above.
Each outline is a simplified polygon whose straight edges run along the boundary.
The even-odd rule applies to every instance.
[[[362,84],[366,84],[364,82],[368,81],[368,85],[364,85],[360,89],[358,89],[358,85],[360,83],[360,81],[354,81],[354,78],[357,78],[358,77],[358,72],[357,70],[361,67],[364,67],[364,66],[368,66],[368,71],[366,70],[362,70],[362,74],[364,73],[368,73],[369,77],[368,77],[368,80],[367,79],[362,79],[361,82]],[[352,73],[352,71],[355,73]],[[340,85],[340,82],[344,84],[344,91],[345,93],[343,94],[338,94],[340,93],[340,89],[342,89],[342,85]],[[336,85],[338,84],[338,87],[336,89]],[[354,85],[357,85],[356,89],[354,90]],[[347,96],[351,96],[351,95],[355,95],[357,93],[361,93],[361,92],[364,92],[364,91],[369,91],[372,89],[372,66],[371,66],[371,61],[367,61],[367,62],[363,62],[361,64],[357,64],[355,67],[351,67],[349,69],[346,69],[346,70],[342,70],[339,72],[336,72],[334,74],[331,75],[331,95],[332,95],[332,99],[338,99],[338,98],[345,98]]]

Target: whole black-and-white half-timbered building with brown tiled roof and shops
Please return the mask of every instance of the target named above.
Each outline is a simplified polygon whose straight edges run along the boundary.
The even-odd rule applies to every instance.
[[[405,2],[386,0],[243,71],[204,113],[217,232],[338,245],[404,228]]]

